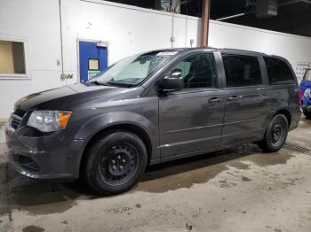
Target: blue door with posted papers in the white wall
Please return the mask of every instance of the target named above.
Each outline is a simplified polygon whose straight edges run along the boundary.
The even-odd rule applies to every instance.
[[[88,81],[108,67],[107,46],[79,41],[80,81]]]

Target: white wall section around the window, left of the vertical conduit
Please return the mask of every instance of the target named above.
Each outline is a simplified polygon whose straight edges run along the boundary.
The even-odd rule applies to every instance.
[[[0,0],[0,40],[25,43],[27,77],[0,77],[0,119],[20,97],[55,88],[60,81],[60,23],[56,0]],[[4,80],[6,79],[6,80]]]

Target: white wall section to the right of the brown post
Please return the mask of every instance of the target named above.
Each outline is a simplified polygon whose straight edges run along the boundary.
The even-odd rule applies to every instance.
[[[311,38],[253,27],[210,21],[209,45],[215,48],[256,50],[287,58],[296,70],[298,62],[311,62]]]

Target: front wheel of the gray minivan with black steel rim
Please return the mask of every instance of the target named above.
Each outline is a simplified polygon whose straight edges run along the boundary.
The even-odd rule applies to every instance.
[[[87,151],[84,179],[98,194],[131,189],[144,173],[148,153],[140,137],[125,131],[100,138]]]

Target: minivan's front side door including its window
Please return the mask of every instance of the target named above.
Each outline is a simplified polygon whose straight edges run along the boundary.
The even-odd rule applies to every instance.
[[[184,89],[159,97],[161,158],[218,147],[226,91],[218,89],[213,53],[180,61],[166,73],[181,73]]]

